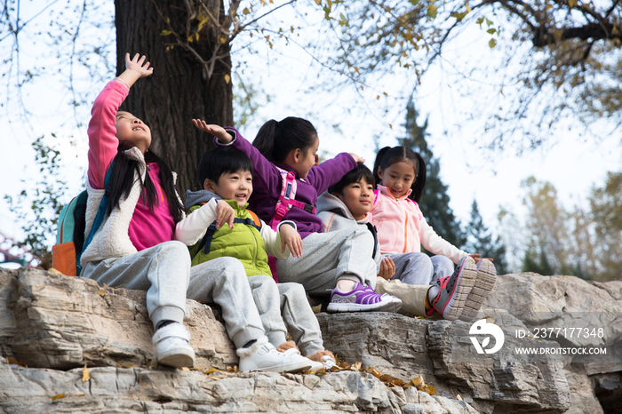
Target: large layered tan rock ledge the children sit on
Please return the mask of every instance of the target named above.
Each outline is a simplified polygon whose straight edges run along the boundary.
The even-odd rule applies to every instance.
[[[510,353],[525,341],[538,348],[619,350],[620,310],[622,282],[499,276],[481,316],[505,330],[506,343],[485,355],[474,351],[471,322],[318,314],[325,346],[344,361],[406,381],[421,376],[435,386],[431,396],[357,371],[205,374],[236,364],[237,356],[211,308],[192,300],[185,322],[198,370],[149,369],[153,327],[145,292],[102,289],[88,279],[33,269],[0,270],[0,412],[620,412],[619,357],[585,362]],[[564,324],[600,324],[607,335],[514,336],[518,329]],[[28,368],[7,363],[12,358]],[[83,382],[85,363],[91,379]],[[65,397],[52,400],[58,394]]]

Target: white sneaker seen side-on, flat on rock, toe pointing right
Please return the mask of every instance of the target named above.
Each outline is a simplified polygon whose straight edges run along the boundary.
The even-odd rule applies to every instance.
[[[242,372],[263,370],[268,372],[301,372],[309,370],[313,362],[300,355],[298,349],[278,352],[267,338],[260,338],[248,348],[237,350]]]

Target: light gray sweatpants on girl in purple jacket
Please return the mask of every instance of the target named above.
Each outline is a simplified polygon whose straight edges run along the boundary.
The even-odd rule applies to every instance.
[[[326,295],[342,279],[376,286],[373,235],[365,226],[314,233],[302,239],[302,257],[276,260],[279,282],[298,282],[310,294]]]

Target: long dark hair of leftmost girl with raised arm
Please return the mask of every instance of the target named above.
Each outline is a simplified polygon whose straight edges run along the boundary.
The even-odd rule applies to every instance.
[[[113,161],[110,185],[108,187],[109,190],[107,190],[108,198],[110,200],[110,204],[108,205],[108,214],[110,214],[113,209],[121,203],[122,198],[125,199],[130,195],[134,185],[134,180],[136,179],[135,174],[137,172],[140,177],[140,169],[142,168],[140,162],[128,158],[124,154],[124,151],[129,148],[130,147],[124,145],[123,142],[120,142]],[[172,178],[171,168],[163,161],[162,158],[157,156],[151,150],[148,150],[148,152],[145,153],[145,163],[157,163],[160,167],[160,173],[158,175],[160,183],[163,187],[166,199],[169,202],[169,209],[171,210],[172,218],[175,220],[175,223],[179,223],[179,221],[184,218],[184,207],[181,205],[177,191],[175,190],[175,183]],[[145,182],[141,182],[140,187],[145,190],[140,196],[147,196],[146,202],[149,210],[154,211],[154,206],[159,203],[159,201],[156,186],[153,181],[151,181],[151,177],[149,177],[148,173],[145,174]]]

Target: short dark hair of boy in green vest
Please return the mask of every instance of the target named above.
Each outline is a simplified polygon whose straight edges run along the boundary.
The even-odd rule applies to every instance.
[[[222,174],[235,171],[251,171],[252,162],[248,155],[235,147],[215,147],[203,154],[196,171],[199,186],[203,188],[205,179],[211,179],[214,183]]]

